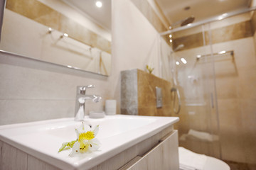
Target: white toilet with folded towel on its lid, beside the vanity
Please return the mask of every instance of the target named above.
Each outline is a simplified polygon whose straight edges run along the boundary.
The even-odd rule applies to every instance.
[[[230,166],[220,159],[196,154],[184,147],[178,147],[180,170],[230,170]]]

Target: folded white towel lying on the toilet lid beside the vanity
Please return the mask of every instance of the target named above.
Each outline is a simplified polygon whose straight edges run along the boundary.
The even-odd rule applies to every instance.
[[[183,147],[178,147],[178,159],[182,170],[203,170],[207,157],[204,154],[196,154]]]

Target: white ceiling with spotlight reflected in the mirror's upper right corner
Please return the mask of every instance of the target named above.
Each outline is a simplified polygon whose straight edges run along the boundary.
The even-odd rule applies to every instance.
[[[92,21],[107,30],[111,30],[111,0],[100,0],[102,7],[98,8],[95,3],[98,0],[63,0],[70,6],[89,16]]]

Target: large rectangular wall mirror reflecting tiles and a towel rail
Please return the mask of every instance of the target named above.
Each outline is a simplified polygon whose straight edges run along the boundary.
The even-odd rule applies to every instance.
[[[0,1],[0,50],[110,75],[111,0],[101,8],[82,0]]]

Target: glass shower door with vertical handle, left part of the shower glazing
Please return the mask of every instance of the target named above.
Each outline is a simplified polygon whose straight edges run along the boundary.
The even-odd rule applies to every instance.
[[[173,77],[181,94],[179,145],[220,158],[210,24],[173,33]],[[181,49],[177,47],[183,47]]]

